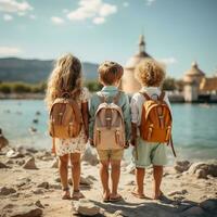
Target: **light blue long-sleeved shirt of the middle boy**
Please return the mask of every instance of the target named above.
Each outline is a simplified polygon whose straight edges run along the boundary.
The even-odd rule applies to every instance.
[[[94,127],[94,115],[98,110],[98,106],[101,104],[100,97],[98,94],[102,93],[105,95],[108,100],[108,102],[112,102],[114,97],[118,93],[118,89],[115,86],[105,86],[102,88],[101,91],[94,93],[90,99],[90,122],[89,122],[89,137],[90,139],[93,139],[93,127]],[[125,132],[126,132],[126,141],[130,140],[131,136],[131,114],[130,114],[130,104],[129,104],[129,98],[126,93],[122,92],[119,100],[117,102],[117,105],[119,105],[123,110],[124,115],[124,122],[125,122]]]

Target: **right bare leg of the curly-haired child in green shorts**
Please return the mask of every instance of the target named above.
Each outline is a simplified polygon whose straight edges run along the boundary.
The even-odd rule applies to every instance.
[[[154,171],[153,171],[153,176],[154,176],[154,200],[157,200],[162,192],[161,192],[161,183],[162,183],[162,177],[163,177],[163,166],[153,166],[154,167]]]

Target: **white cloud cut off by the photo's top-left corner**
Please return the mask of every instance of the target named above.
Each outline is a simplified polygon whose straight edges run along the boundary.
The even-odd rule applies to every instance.
[[[34,8],[27,1],[0,0],[0,11],[7,13],[26,14]]]

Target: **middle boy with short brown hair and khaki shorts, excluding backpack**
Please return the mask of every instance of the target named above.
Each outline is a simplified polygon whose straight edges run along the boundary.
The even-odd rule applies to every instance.
[[[116,202],[120,201],[122,196],[117,193],[117,187],[120,176],[120,161],[124,154],[124,146],[127,146],[130,139],[130,106],[128,97],[118,90],[120,78],[123,76],[123,67],[114,62],[106,61],[102,63],[98,69],[99,72],[99,81],[104,86],[101,91],[93,94],[90,102],[90,123],[89,123],[89,137],[90,144],[97,145],[98,155],[100,158],[100,178],[103,187],[103,202]],[[118,95],[119,94],[119,95]],[[126,143],[122,149],[113,150],[100,150],[98,144],[93,141],[93,135],[97,133],[93,130],[93,125],[95,124],[95,112],[99,108],[99,105],[102,103],[102,97],[107,102],[114,102],[115,98],[118,95],[116,104],[120,107],[124,116],[125,125],[125,135]],[[114,104],[113,104],[114,105]],[[106,115],[106,112],[105,112]],[[104,118],[110,122],[110,118]],[[108,137],[110,140],[110,137]],[[112,141],[112,138],[111,140]],[[108,142],[110,143],[110,142]],[[115,142],[114,142],[115,143]],[[102,144],[103,145],[103,144]],[[111,144],[112,146],[113,144]],[[112,191],[108,187],[108,167],[112,167],[111,178],[112,178]]]

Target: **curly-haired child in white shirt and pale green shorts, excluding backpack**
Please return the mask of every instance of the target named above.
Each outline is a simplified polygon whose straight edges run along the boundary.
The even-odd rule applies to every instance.
[[[170,104],[167,95],[163,95],[159,89],[165,77],[164,69],[159,64],[148,59],[141,62],[136,68],[136,78],[141,84],[142,88],[140,92],[133,94],[131,99],[131,116],[132,116],[132,139],[131,144],[135,145],[135,163],[136,163],[136,181],[137,188],[132,191],[132,194],[137,197],[144,199],[143,180],[145,175],[145,167],[153,165],[154,176],[154,194],[153,199],[157,200],[162,195],[161,182],[163,177],[163,166],[166,164],[166,144],[159,142],[148,142],[142,139],[142,131],[139,128],[142,119],[142,107],[146,100],[157,100],[161,97],[165,102],[165,106],[168,105],[170,111]],[[169,112],[170,113],[170,112]],[[152,117],[154,118],[154,117]],[[158,122],[158,119],[157,119]],[[140,128],[141,129],[141,128]],[[169,128],[170,129],[170,128]],[[158,136],[156,133],[156,136]]]

